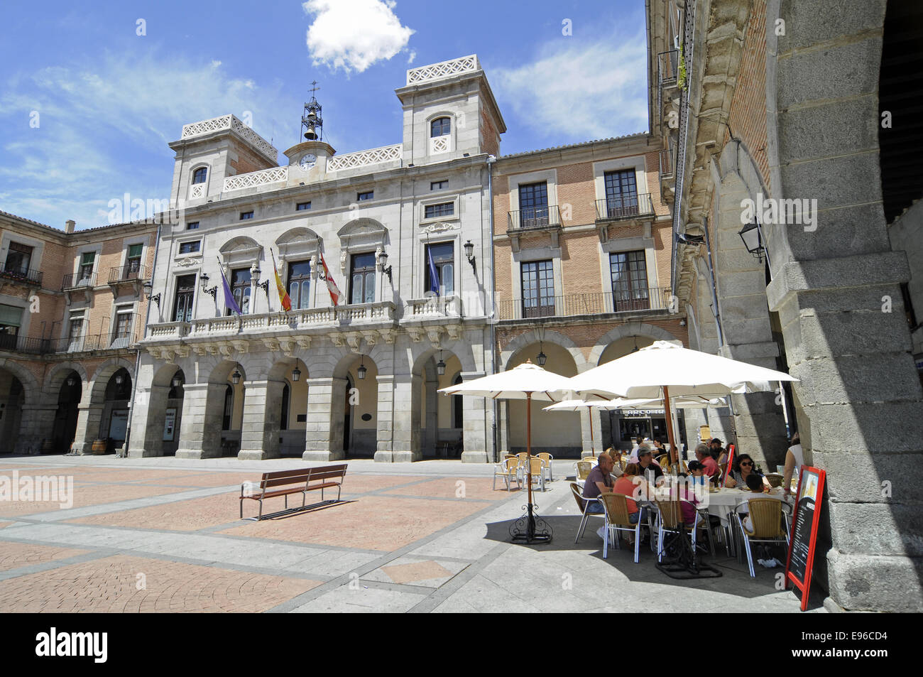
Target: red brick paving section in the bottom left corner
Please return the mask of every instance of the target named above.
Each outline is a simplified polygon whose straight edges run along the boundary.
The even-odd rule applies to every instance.
[[[319,581],[114,555],[0,581],[0,609],[126,613],[258,612]]]

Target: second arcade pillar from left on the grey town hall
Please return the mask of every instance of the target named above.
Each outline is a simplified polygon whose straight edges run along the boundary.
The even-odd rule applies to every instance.
[[[186,383],[176,458],[222,455],[222,414],[226,383]]]

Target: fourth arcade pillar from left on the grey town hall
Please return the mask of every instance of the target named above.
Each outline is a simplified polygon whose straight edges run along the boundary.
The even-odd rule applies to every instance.
[[[307,380],[306,461],[339,461],[343,451],[343,417],[346,416],[346,379]]]

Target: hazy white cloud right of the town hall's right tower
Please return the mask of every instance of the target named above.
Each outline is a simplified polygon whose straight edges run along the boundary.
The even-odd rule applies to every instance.
[[[556,144],[647,129],[643,35],[620,43],[556,44],[545,52],[550,54],[533,63],[488,71],[501,110],[511,109],[517,125],[532,127]]]

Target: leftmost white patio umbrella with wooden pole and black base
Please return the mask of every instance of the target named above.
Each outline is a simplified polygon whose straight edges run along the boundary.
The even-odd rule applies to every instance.
[[[519,367],[501,371],[497,374],[462,381],[438,392],[447,395],[474,395],[476,397],[489,397],[493,400],[525,400],[526,416],[526,442],[527,453],[526,472],[529,484],[529,515],[528,532],[525,541],[528,543],[550,541],[551,538],[535,538],[535,523],[532,507],[532,401],[559,402],[564,393],[570,390],[570,380],[551,371],[545,371],[532,360],[526,361]],[[515,539],[515,537],[514,537]]]

